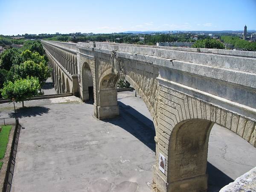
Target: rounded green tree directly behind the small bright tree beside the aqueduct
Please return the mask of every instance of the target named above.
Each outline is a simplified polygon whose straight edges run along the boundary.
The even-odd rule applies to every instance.
[[[14,67],[14,79],[26,79],[27,76],[37,77],[42,86],[51,75],[51,70],[42,62],[28,60]]]

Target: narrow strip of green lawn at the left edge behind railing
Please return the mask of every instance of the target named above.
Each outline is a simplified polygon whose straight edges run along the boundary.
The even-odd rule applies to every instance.
[[[0,160],[3,159],[7,143],[9,141],[9,134],[12,129],[12,125],[1,126],[2,131],[0,132]],[[3,162],[0,161],[0,169],[2,168]]]

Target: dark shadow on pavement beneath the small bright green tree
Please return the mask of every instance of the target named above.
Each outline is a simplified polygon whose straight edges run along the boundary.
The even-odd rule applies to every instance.
[[[49,112],[49,108],[41,107],[41,106],[33,106],[33,107],[24,107],[24,108],[18,108],[16,110],[17,117],[31,117],[31,116],[41,116],[44,113]],[[9,116],[12,118],[15,118],[15,113],[9,113]]]

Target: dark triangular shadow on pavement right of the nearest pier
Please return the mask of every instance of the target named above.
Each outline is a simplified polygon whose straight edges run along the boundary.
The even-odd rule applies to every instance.
[[[208,192],[218,192],[222,187],[234,180],[207,162]]]

